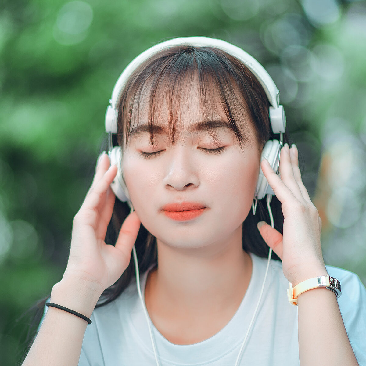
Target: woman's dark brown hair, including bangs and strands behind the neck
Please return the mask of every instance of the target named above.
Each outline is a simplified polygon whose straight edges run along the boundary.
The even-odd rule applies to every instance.
[[[171,141],[174,141],[179,103],[184,93],[185,81],[198,77],[200,97],[203,112],[209,115],[210,96],[219,96],[228,122],[240,145],[247,142],[243,115],[249,116],[252,123],[257,145],[261,150],[268,139],[279,139],[272,133],[269,123],[269,101],[258,79],[242,62],[235,57],[212,47],[173,46],[164,49],[141,64],[128,79],[117,104],[118,131],[113,135],[113,145],[123,147],[124,134],[126,143],[131,123],[137,119],[144,92],[149,96],[149,125],[152,127],[156,120],[157,105],[163,96],[168,101],[169,131]],[[214,93],[214,94],[212,94]],[[209,131],[211,133],[211,131]],[[214,134],[212,135],[215,138]],[[153,130],[150,139],[154,144]],[[283,136],[284,143],[291,143],[287,132]],[[282,234],[284,217],[281,202],[273,196],[271,209],[275,220],[275,228]],[[108,225],[105,242],[114,245],[123,221],[130,213],[126,202],[115,201],[111,221]],[[262,239],[257,229],[259,221],[269,223],[269,215],[265,199],[258,201],[257,212],[253,216],[250,210],[243,222],[243,250],[259,257],[268,257],[269,247]],[[138,257],[140,273],[153,264],[157,264],[156,238],[141,224],[135,248]],[[272,258],[280,258],[272,253]],[[131,255],[130,264],[115,284],[105,289],[96,307],[101,307],[116,299],[135,277],[135,265]],[[36,305],[40,311],[33,322],[39,324],[46,299]],[[30,346],[29,346],[30,347]]]

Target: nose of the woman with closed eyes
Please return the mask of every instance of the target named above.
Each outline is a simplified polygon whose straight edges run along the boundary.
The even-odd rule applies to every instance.
[[[199,185],[197,164],[187,146],[175,146],[171,150],[171,160],[163,184],[168,190],[184,191]]]

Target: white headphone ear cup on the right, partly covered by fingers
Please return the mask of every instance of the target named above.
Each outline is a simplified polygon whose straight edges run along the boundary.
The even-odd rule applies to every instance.
[[[268,140],[262,150],[261,159],[262,157],[266,158],[273,170],[276,170],[275,167],[277,167],[279,161],[280,147],[281,145],[278,140]],[[262,168],[260,168],[254,198],[262,199],[266,194],[275,195],[275,192],[273,192],[272,187],[269,185],[267,178],[262,172]]]

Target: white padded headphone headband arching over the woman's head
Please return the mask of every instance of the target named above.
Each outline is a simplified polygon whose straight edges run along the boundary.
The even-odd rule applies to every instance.
[[[209,37],[180,37],[173,38],[171,40],[158,43],[147,50],[140,53],[135,57],[123,70],[122,74],[117,79],[112,91],[112,98],[109,100],[110,105],[105,113],[105,130],[106,132],[117,133],[117,111],[116,104],[118,97],[126,85],[127,79],[131,76],[132,72],[141,65],[144,61],[149,59],[157,52],[169,48],[171,46],[178,45],[190,45],[195,47],[214,47],[225,51],[230,55],[236,57],[242,61],[243,64],[253,72],[254,76],[261,83],[268,100],[271,104],[269,107],[270,122],[272,125],[273,133],[285,132],[286,117],[282,105],[279,105],[279,90],[277,89],[275,82],[272,80],[265,68],[249,53],[245,52],[238,46],[235,46],[229,42]]]

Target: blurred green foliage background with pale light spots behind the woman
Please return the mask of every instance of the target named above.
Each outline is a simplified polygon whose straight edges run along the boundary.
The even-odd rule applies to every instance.
[[[173,37],[244,48],[281,91],[326,264],[366,283],[366,6],[337,0],[7,0],[0,8],[0,363],[66,268],[123,68]],[[34,330],[34,329],[33,329]]]

